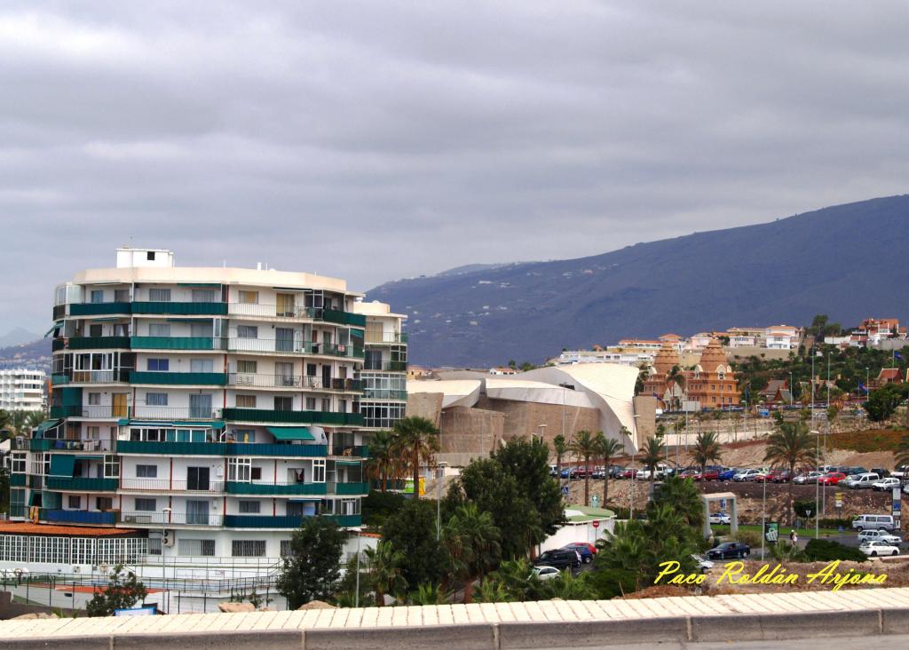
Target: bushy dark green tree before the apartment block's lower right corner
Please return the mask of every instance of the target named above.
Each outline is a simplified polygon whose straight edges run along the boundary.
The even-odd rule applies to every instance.
[[[341,574],[341,549],[347,533],[327,517],[304,517],[290,540],[285,555],[278,593],[287,598],[290,609],[311,600],[327,600],[337,587]]]

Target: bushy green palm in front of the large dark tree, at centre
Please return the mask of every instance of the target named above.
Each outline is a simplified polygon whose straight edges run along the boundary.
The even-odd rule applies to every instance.
[[[493,515],[476,504],[459,505],[442,532],[442,540],[454,564],[454,572],[464,578],[464,598],[471,594],[470,585],[479,577],[483,583],[487,571],[498,564],[502,555],[502,538]]]

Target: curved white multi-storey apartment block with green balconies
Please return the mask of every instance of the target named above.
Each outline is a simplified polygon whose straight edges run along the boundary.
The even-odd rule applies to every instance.
[[[370,431],[405,415],[407,364],[405,316],[361,300],[160,249],[76,274],[12,517],[129,529],[165,558],[277,558],[305,516],[360,525]]]

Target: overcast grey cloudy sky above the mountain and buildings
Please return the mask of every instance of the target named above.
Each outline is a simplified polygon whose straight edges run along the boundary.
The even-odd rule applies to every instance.
[[[0,334],[128,242],[365,290],[903,194],[906,25],[902,0],[5,0]]]

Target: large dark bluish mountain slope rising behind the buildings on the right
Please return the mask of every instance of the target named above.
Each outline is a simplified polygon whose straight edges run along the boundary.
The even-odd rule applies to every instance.
[[[563,347],[807,325],[818,313],[844,325],[903,319],[907,226],[909,195],[891,196],[604,255],[400,280],[366,297],[410,315],[410,360],[425,365],[541,362]]]

